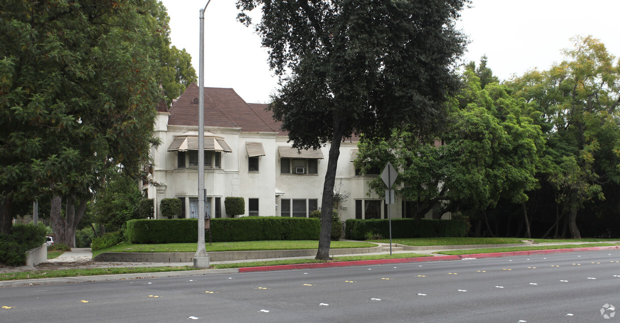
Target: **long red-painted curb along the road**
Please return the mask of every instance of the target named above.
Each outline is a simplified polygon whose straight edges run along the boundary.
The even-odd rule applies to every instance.
[[[461,259],[472,259],[472,258],[482,259],[482,258],[511,257],[515,255],[548,255],[548,254],[564,254],[566,252],[602,251],[602,250],[619,250],[619,249],[620,249],[620,246],[583,247],[583,248],[570,248],[570,249],[490,252],[488,254],[471,254],[471,255],[438,255],[434,257],[431,256],[431,257],[399,258],[399,259],[357,260],[357,261],[350,261],[350,262],[298,263],[296,265],[243,267],[243,268],[239,268],[239,272],[240,273],[272,272],[275,270],[352,267],[352,266],[365,266],[365,265],[384,265],[387,263],[431,262],[431,261],[461,260]]]

